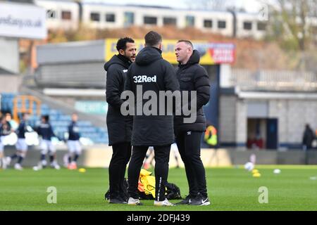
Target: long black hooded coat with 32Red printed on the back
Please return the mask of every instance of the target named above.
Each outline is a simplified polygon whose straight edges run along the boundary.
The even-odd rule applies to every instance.
[[[125,90],[135,94],[137,86],[145,91],[154,91],[159,100],[159,91],[179,90],[175,70],[163,60],[161,50],[145,47],[137,54],[135,63],[128,70]],[[142,105],[148,100],[143,100]],[[135,108],[136,108],[135,101]],[[159,114],[159,113],[158,113]],[[132,146],[166,146],[173,143],[172,115],[135,115],[133,119]]]

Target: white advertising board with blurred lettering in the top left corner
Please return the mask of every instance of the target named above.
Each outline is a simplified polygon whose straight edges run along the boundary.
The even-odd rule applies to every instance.
[[[0,2],[0,37],[45,39],[45,20],[44,8]]]

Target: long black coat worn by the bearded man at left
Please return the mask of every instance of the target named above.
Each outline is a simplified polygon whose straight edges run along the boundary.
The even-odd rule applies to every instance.
[[[107,127],[109,146],[116,143],[130,142],[132,133],[131,116],[123,116],[120,107],[123,100],[120,98],[124,89],[125,77],[130,61],[124,56],[113,56],[104,65],[107,72],[106,101],[108,103]]]

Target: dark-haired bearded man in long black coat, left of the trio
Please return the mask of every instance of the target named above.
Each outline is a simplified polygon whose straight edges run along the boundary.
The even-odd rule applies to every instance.
[[[128,196],[124,195],[123,182],[125,169],[131,156],[132,117],[123,116],[120,98],[124,89],[125,77],[130,64],[135,60],[135,41],[129,37],[118,40],[115,55],[105,65],[106,101],[108,103],[107,127],[109,146],[113,154],[109,165],[109,203],[126,204]]]

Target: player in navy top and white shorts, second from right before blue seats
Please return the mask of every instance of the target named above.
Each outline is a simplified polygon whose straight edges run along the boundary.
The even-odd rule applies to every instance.
[[[49,162],[51,163],[51,167],[55,169],[60,169],[58,163],[56,162],[56,148],[54,148],[53,143],[51,143],[51,138],[56,135],[54,134],[51,124],[49,123],[48,115],[43,115],[41,117],[41,123],[35,130],[37,131],[37,134],[39,134],[39,136],[42,136],[42,151],[39,162],[39,169],[42,169],[42,167],[46,167],[47,162],[45,158],[47,153],[49,153]]]

